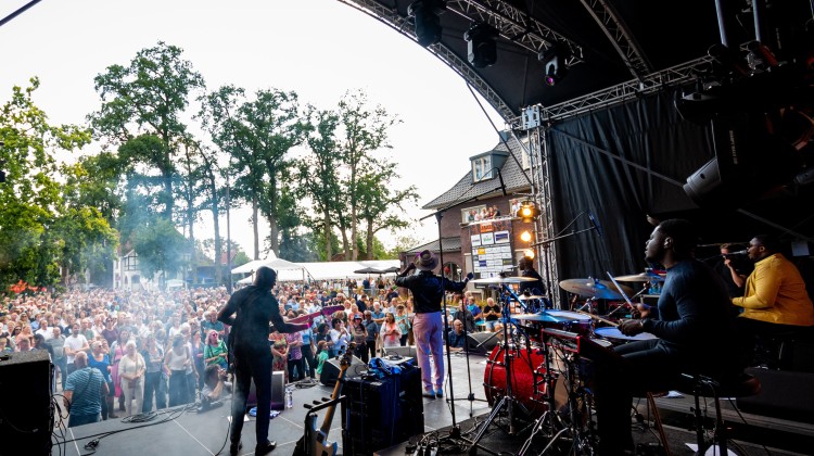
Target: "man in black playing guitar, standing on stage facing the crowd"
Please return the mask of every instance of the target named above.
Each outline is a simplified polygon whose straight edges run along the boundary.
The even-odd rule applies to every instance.
[[[262,266],[255,273],[254,284],[236,291],[218,313],[218,320],[230,325],[230,359],[234,360],[234,395],[232,397],[231,446],[237,455],[243,446],[240,433],[246,411],[246,394],[254,380],[257,390],[257,446],[254,453],[265,455],[277,446],[268,440],[268,421],[271,411],[271,351],[268,346],[268,322],[279,332],[296,332],[307,325],[289,325],[280,316],[280,306],[271,294],[277,273]],[[236,317],[232,317],[237,313]]]

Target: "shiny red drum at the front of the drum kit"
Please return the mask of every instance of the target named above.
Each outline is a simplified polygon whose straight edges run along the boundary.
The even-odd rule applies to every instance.
[[[531,353],[525,349],[509,349],[511,359],[511,393],[514,398],[523,404],[531,414],[531,418],[539,418],[546,409],[545,382],[543,376],[546,373],[545,357],[537,350]],[[486,392],[486,401],[494,407],[500,397],[506,395],[506,363],[505,352],[501,344],[492,350],[486,362],[486,370],[483,371],[483,387]],[[535,384],[537,388],[534,388]]]

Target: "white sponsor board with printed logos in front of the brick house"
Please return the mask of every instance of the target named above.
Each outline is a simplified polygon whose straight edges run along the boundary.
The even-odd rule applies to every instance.
[[[484,220],[469,225],[472,240],[472,266],[478,277],[494,277],[514,266],[511,248],[511,220]]]

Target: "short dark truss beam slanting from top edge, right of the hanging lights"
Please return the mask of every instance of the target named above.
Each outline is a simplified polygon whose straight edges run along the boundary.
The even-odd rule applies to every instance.
[[[613,7],[605,0],[582,0],[582,4],[599,24],[635,78],[644,79],[652,73],[652,65]]]

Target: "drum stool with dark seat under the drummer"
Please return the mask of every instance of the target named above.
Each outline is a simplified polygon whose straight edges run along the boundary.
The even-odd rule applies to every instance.
[[[696,455],[704,455],[707,449],[715,444],[721,448],[722,455],[727,455],[726,427],[721,414],[720,400],[721,397],[753,396],[761,390],[760,380],[748,373],[743,373],[741,377],[726,383],[718,383],[717,381],[701,375],[683,373],[682,376],[689,381],[687,385],[681,388],[679,391],[685,394],[692,394],[696,400],[696,406],[692,410],[695,414],[696,438],[698,443]],[[701,414],[701,397],[713,398],[715,402],[715,427],[712,432],[712,439],[709,442],[704,438],[704,415]]]

